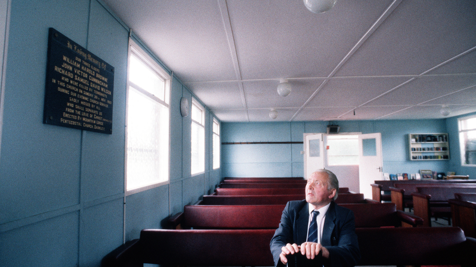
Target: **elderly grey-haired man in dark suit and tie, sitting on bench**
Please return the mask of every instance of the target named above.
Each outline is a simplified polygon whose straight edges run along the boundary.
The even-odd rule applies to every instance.
[[[287,203],[270,243],[276,267],[286,266],[287,255],[298,252],[308,259],[322,257],[324,267],[357,264],[354,214],[333,201],[338,190],[336,175],[318,170],[308,178],[306,200]]]

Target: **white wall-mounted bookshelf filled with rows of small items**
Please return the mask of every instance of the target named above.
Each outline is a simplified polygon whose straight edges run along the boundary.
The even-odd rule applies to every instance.
[[[449,160],[447,133],[408,134],[410,160]]]

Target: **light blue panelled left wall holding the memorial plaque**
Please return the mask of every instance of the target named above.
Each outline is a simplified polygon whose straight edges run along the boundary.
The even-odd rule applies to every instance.
[[[190,175],[191,119],[181,117],[179,102],[187,97],[191,103],[192,94],[175,77],[170,184],[124,198],[129,28],[100,0],[12,0],[10,17],[0,125],[0,266],[99,266],[124,232],[127,241],[141,229],[161,228],[218,185],[208,110],[205,173]],[[114,66],[111,135],[42,123],[49,27]]]

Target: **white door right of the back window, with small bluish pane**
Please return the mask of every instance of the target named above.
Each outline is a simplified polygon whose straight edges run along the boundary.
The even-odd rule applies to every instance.
[[[372,198],[370,184],[383,178],[382,137],[380,133],[358,136],[359,188],[365,198]]]

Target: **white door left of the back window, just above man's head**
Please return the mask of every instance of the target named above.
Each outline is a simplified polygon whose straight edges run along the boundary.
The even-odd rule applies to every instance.
[[[304,134],[304,179],[314,171],[324,168],[323,134]]]

